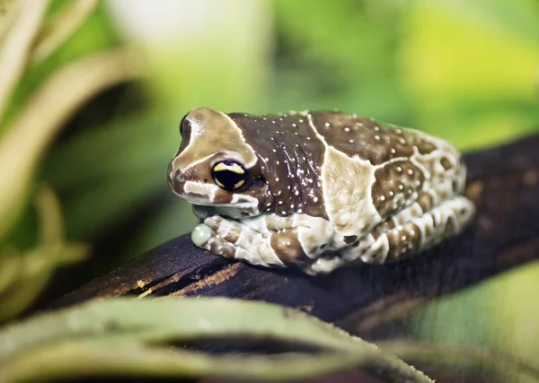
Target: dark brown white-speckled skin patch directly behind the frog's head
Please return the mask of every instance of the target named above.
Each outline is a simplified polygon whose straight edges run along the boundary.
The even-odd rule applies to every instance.
[[[261,173],[274,197],[273,205],[264,212],[286,216],[301,209],[314,217],[327,218],[320,178],[324,145],[307,119],[297,115],[228,116],[242,129],[245,141],[256,152]]]

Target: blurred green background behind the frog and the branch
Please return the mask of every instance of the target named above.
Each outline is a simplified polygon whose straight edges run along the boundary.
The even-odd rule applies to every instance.
[[[68,3],[52,1],[48,17]],[[124,45],[137,47],[144,77],[86,103],[40,157],[34,181],[56,193],[66,240],[92,247],[55,274],[49,298],[194,227],[165,178],[194,107],[339,108],[464,150],[539,132],[536,0],[104,1],[25,71],[0,132],[57,68]],[[31,248],[37,225],[28,205],[4,242]],[[537,278],[527,265],[439,300],[414,316],[413,333],[537,354]]]

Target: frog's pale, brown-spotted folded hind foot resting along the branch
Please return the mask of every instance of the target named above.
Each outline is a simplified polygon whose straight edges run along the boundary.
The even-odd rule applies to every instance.
[[[420,201],[379,224],[349,247],[341,248],[338,257],[319,257],[305,272],[327,274],[358,259],[382,264],[411,257],[463,231],[474,211],[473,203],[464,196],[455,196],[435,207],[430,207],[429,201]]]

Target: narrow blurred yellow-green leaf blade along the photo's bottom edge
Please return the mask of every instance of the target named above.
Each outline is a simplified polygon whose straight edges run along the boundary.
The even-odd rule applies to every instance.
[[[358,366],[363,355],[323,353],[287,355],[207,356],[119,341],[87,340],[53,344],[13,358],[0,372],[3,383],[34,379],[127,376],[153,378],[235,378],[283,381],[305,379]],[[367,358],[366,358],[367,359]],[[421,381],[408,379],[407,381]],[[423,380],[431,381],[431,380]]]

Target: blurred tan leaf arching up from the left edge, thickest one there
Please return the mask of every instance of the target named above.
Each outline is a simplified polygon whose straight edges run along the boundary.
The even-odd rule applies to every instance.
[[[26,203],[41,156],[85,101],[140,74],[128,49],[95,54],[60,69],[31,98],[0,141],[0,239]]]

